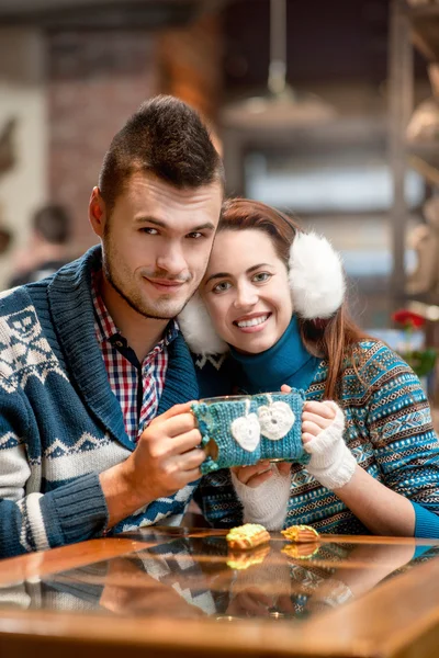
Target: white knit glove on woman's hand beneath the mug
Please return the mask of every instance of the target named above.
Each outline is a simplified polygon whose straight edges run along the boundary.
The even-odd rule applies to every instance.
[[[267,530],[282,530],[290,500],[291,473],[281,475],[275,464],[273,475],[259,485],[244,485],[230,470],[235,491],[243,503],[244,523],[260,523]]]

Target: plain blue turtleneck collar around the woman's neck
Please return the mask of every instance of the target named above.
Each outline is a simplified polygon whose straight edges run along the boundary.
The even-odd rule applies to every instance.
[[[282,384],[306,390],[320,362],[306,351],[295,315],[283,336],[269,350],[243,354],[230,345],[230,355],[238,366],[236,384],[249,394],[279,390]]]

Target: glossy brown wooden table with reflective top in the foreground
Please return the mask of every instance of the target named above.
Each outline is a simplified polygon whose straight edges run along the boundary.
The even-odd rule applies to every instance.
[[[155,527],[0,561],[1,658],[439,656],[439,541]]]

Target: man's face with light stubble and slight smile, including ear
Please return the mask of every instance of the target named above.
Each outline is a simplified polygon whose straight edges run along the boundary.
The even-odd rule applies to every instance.
[[[205,272],[222,197],[219,182],[179,190],[135,173],[109,217],[94,189],[90,218],[102,239],[105,284],[144,317],[177,316]]]

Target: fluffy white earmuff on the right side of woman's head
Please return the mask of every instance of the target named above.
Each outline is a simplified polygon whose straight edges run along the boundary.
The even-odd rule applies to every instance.
[[[314,232],[297,232],[290,249],[289,280],[295,313],[329,318],[341,306],[346,282],[339,254]]]

